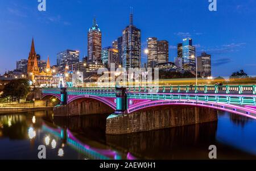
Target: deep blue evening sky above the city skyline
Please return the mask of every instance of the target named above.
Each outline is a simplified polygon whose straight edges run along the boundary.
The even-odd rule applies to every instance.
[[[212,55],[213,76],[230,76],[244,69],[256,75],[256,1],[217,0],[209,11],[208,0],[46,0],[38,11],[37,0],[0,0],[0,73],[15,69],[16,60],[27,59],[31,39],[42,59],[49,55],[56,64],[57,52],[74,49],[86,55],[87,32],[96,16],[102,31],[102,47],[122,35],[129,24],[130,6],[134,24],[142,31],[142,50],[150,36],[168,40],[170,61],[176,45],[191,37],[197,55]],[[142,54],[142,62],[146,56]]]

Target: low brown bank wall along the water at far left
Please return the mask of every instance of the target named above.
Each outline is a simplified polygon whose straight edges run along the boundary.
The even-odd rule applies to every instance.
[[[44,107],[0,107],[0,115],[8,112],[26,112],[53,109],[53,106]]]

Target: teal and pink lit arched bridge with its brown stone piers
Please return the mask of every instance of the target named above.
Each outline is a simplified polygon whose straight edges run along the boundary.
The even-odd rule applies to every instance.
[[[106,134],[111,135],[212,122],[217,110],[256,119],[254,85],[46,88],[42,93],[60,99],[55,116],[110,114]]]

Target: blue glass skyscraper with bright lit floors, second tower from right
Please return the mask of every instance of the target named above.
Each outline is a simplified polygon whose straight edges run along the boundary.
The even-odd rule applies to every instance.
[[[196,70],[196,48],[192,45],[192,39],[183,39],[182,64],[184,70]]]

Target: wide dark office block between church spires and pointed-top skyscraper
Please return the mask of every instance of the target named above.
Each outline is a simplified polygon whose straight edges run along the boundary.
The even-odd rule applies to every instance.
[[[67,64],[69,65],[74,62],[79,62],[79,51],[67,49],[57,53],[57,65],[59,66],[60,72],[64,72]]]

